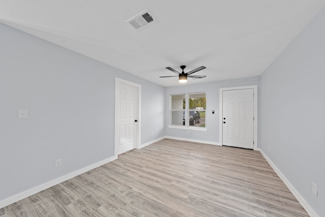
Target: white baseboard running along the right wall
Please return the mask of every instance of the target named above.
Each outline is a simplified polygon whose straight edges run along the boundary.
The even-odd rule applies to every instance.
[[[312,217],[319,217],[318,214],[309,206],[306,200],[299,194],[295,187],[289,182],[289,180],[281,173],[281,171],[275,166],[275,164],[268,158],[268,156],[263,152],[263,150],[258,149],[262,153],[263,157],[267,160],[270,166],[274,169],[276,174],[281,178],[286,187],[290,190],[291,193],[296,197],[299,203],[306,209],[308,214]]]

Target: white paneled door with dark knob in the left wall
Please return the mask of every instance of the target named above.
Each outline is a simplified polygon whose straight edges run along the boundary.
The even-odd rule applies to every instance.
[[[118,154],[136,148],[137,145],[137,87],[118,84],[117,99],[117,139]]]

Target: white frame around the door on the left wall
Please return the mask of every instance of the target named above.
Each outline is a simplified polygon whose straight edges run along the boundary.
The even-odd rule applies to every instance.
[[[136,148],[140,149],[140,141],[141,141],[141,85],[131,82],[131,81],[127,81],[121,78],[117,78],[115,77],[115,133],[114,133],[114,156],[117,158],[118,156],[118,140],[119,140],[119,135],[117,135],[118,132],[118,126],[119,126],[119,122],[118,122],[118,109],[119,109],[119,105],[118,105],[118,99],[119,99],[119,94],[118,94],[118,88],[120,86],[120,84],[124,84],[124,85],[128,85],[128,86],[132,86],[135,87],[137,89],[137,132],[136,132],[136,137],[137,139],[135,140],[136,142]]]

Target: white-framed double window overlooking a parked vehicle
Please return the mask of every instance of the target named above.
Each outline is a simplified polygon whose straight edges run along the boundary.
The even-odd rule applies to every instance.
[[[171,95],[170,125],[205,128],[206,93]]]

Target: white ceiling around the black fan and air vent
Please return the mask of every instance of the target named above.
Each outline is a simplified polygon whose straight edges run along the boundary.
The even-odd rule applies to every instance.
[[[325,0],[0,0],[0,22],[163,86],[261,75]],[[149,9],[136,30],[125,21]],[[109,72],[107,72],[109,73]]]

